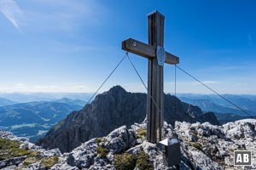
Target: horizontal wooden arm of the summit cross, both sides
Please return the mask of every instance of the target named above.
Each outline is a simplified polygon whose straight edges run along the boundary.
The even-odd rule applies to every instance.
[[[156,57],[156,48],[154,46],[139,42],[131,38],[122,42],[122,49],[148,59],[154,59]],[[166,52],[165,63],[170,65],[176,65],[179,63],[179,58],[173,54]]]

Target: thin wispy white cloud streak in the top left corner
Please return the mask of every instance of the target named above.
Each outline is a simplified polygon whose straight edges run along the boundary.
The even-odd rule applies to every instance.
[[[22,15],[20,7],[13,0],[0,0],[0,11],[20,31],[18,19]]]

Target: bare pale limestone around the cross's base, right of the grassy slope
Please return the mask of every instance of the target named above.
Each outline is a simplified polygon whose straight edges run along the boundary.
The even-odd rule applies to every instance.
[[[145,169],[255,169],[255,153],[253,152],[253,166],[234,167],[234,150],[253,150],[255,143],[256,120],[247,119],[223,126],[215,126],[208,122],[189,123],[176,122],[175,129],[165,122],[164,138],[171,137],[175,132],[181,141],[181,162],[177,166],[166,167],[163,163],[163,152],[156,144],[148,143],[145,138],[138,138],[142,129],[145,130],[146,123],[135,123],[131,129],[119,127],[107,137],[101,139],[90,139],[72,152],[66,154],[61,162],[55,165],[55,169],[116,169],[116,155],[131,154],[138,156],[143,151],[148,156],[148,165]],[[236,127],[240,127],[239,129]],[[236,128],[236,130],[233,130]],[[174,130],[174,131],[173,131]],[[240,139],[236,134],[244,133]],[[101,156],[98,148],[105,148],[105,156]],[[64,154],[65,155],[65,154]],[[175,156],[175,153],[173,153]],[[134,169],[140,169],[134,165]],[[141,169],[143,169],[141,167]]]

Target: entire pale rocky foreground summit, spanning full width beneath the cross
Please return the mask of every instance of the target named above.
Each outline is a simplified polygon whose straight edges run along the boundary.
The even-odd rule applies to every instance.
[[[175,132],[175,133],[173,133]],[[146,122],[134,123],[131,128],[122,126],[107,136],[94,138],[81,144],[71,152],[61,154],[59,150],[44,150],[26,139],[14,137],[1,131],[0,139],[20,141],[20,148],[27,151],[37,150],[40,159],[28,156],[9,157],[0,160],[3,169],[256,169],[256,120],[245,119],[229,122],[223,126],[209,122],[165,122],[164,138],[176,136],[181,142],[181,162],[177,166],[166,167],[163,163],[163,151],[156,144],[145,140]],[[234,166],[234,150],[253,150],[252,166]],[[1,148],[1,153],[3,148]],[[7,150],[5,150],[7,151]],[[3,154],[1,155],[3,156]],[[45,167],[44,160],[55,156]],[[175,153],[173,153],[175,156]]]

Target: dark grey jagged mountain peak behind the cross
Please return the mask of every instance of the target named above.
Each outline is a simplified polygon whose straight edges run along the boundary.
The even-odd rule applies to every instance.
[[[45,149],[59,148],[68,152],[89,139],[102,137],[120,126],[131,126],[134,122],[143,122],[146,116],[147,95],[129,93],[120,86],[99,94],[91,104],[81,111],[74,111],[55,127],[37,144]],[[202,113],[194,105],[183,103],[171,94],[165,95],[164,117],[167,123],[175,121],[211,122],[218,125],[212,112]]]

